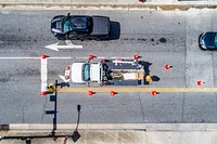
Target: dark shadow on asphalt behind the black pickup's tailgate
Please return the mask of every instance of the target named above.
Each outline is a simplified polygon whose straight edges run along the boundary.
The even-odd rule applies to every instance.
[[[111,36],[108,40],[117,40],[120,36],[120,25],[118,22],[111,21]]]

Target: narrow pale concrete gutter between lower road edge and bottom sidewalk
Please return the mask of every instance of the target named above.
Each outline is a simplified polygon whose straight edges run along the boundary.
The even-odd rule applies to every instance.
[[[8,127],[7,127],[8,126]],[[2,128],[2,127],[0,127]],[[56,125],[58,130],[74,130],[76,123]],[[52,123],[11,123],[0,130],[52,130]],[[79,130],[217,131],[217,123],[79,123]]]

